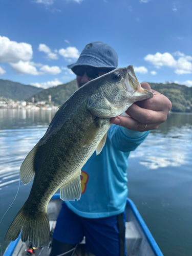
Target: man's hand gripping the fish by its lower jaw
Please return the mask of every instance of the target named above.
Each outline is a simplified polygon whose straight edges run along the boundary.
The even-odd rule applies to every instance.
[[[153,92],[153,98],[135,102],[124,113],[124,116],[113,117],[111,122],[129,130],[146,132],[155,130],[160,123],[166,121],[167,114],[172,108],[172,103],[163,94],[151,89],[146,82],[141,87]]]

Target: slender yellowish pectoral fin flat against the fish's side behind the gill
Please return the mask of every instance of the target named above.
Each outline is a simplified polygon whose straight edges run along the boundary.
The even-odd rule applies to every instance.
[[[86,147],[94,141],[95,137],[100,131],[101,126],[99,125],[99,119],[95,119],[90,125],[86,133],[84,134],[81,142],[81,147]]]

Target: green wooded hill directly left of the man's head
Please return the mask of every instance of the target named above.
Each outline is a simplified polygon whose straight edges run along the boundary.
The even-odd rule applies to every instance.
[[[76,79],[71,82],[60,84],[59,86],[45,89],[41,92],[33,95],[34,102],[47,101],[49,95],[51,95],[51,102],[55,105],[62,105],[76,90],[77,90]],[[27,98],[26,101],[31,102],[31,97]]]

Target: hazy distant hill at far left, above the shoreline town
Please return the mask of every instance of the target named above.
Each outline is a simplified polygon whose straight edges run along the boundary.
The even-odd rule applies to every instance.
[[[44,89],[35,86],[26,86],[19,82],[0,79],[0,97],[13,100],[25,100]]]

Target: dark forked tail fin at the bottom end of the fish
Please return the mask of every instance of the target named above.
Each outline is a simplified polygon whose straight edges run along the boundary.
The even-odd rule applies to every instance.
[[[5,241],[15,241],[20,231],[22,231],[22,242],[28,239],[35,247],[42,247],[49,244],[50,231],[49,231],[49,218],[47,210],[45,212],[38,212],[34,217],[27,214],[26,210],[22,208],[18,211],[15,219],[11,223]]]

